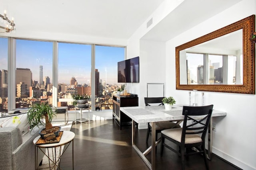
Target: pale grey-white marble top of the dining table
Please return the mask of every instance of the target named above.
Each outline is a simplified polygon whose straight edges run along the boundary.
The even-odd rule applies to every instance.
[[[172,110],[166,110],[164,109],[164,106],[120,107],[120,111],[128,115],[137,123],[178,121],[184,119],[184,115],[182,115],[182,106],[183,105],[173,105]],[[227,113],[224,111],[212,111],[212,117],[226,116],[226,114]]]

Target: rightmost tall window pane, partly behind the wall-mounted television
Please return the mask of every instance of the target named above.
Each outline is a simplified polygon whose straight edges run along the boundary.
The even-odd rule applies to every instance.
[[[117,62],[124,60],[124,47],[95,46],[95,106],[112,109],[117,88]]]

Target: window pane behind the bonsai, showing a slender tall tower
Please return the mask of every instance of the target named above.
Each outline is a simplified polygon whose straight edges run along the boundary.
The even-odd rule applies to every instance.
[[[16,39],[16,108],[52,105],[53,43]]]

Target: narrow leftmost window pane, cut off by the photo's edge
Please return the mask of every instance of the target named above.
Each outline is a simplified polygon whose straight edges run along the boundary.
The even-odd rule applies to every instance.
[[[8,38],[0,37],[0,111],[8,109]]]

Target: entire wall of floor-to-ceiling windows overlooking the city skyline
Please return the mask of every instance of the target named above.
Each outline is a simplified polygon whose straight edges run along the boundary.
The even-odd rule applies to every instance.
[[[91,96],[92,110],[112,109],[112,94],[121,85],[117,62],[125,59],[125,47],[16,38],[0,38],[0,45],[0,104],[5,111],[42,102],[74,110],[72,94]],[[9,107],[8,93],[16,98]]]

